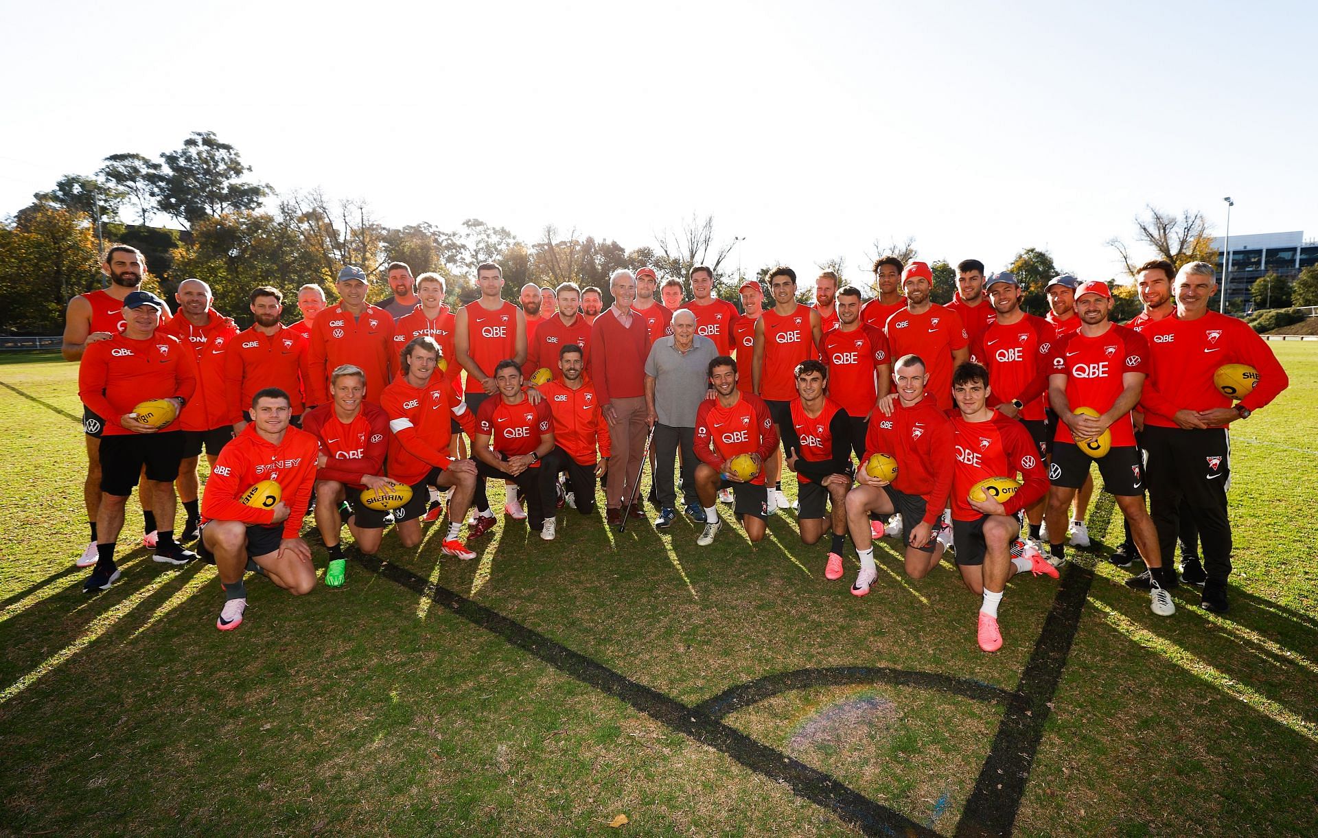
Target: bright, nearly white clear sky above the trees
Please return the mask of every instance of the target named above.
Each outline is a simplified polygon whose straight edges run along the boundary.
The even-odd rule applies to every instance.
[[[191,130],[386,224],[626,248],[693,212],[747,271],[875,238],[1119,273],[1145,203],[1318,237],[1311,3],[0,0],[0,215]],[[1307,83],[1305,82],[1307,79]],[[1223,109],[1226,104],[1226,109]],[[1144,256],[1136,250],[1136,257]]]

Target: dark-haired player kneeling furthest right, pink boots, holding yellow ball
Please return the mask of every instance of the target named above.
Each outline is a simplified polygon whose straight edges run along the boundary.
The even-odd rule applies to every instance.
[[[952,374],[952,398],[958,411],[952,418],[957,452],[952,474],[952,538],[961,581],[983,597],[979,648],[996,652],[1002,648],[998,605],[1007,580],[1025,571],[1057,578],[1057,568],[1048,564],[1031,542],[1024,543],[1019,559],[1011,556],[1011,545],[1020,535],[1017,515],[1048,493],[1048,476],[1029,431],[988,407],[988,370],[979,364],[962,364]],[[999,499],[992,493],[983,493],[983,501],[970,497],[979,481],[990,477],[1015,480],[1017,473],[1024,481],[1011,497]]]

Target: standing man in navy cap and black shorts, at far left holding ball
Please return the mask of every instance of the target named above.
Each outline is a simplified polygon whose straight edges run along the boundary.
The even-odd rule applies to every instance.
[[[183,459],[177,422],[153,427],[133,408],[145,399],[173,399],[182,410],[196,390],[196,357],[173,335],[158,331],[165,303],[150,291],[124,298],[123,329],[87,345],[78,368],[78,397],[104,419],[100,439],[100,509],[96,513],[96,567],[83,592],[107,590],[116,578],[115,542],[124,506],[142,466],[152,481],[157,515],[156,555],[165,564],[187,564],[196,553],[174,542],[174,478]]]

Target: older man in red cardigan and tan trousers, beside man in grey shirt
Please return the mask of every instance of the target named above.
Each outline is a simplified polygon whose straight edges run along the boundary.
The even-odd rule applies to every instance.
[[[650,356],[650,329],[646,319],[631,310],[637,281],[629,270],[616,270],[609,282],[613,306],[601,314],[590,329],[590,381],[594,383],[604,418],[613,440],[609,485],[605,488],[606,518],[622,523],[622,503],[641,478],[641,453],[646,435],[646,358]],[[631,507],[645,518],[641,505]]]

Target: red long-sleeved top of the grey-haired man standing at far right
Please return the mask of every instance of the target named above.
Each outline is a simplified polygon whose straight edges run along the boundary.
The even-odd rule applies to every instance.
[[[1248,364],[1259,370],[1259,383],[1240,399],[1249,410],[1264,407],[1290,383],[1268,341],[1224,314],[1209,311],[1194,320],[1162,318],[1140,333],[1153,356],[1140,397],[1144,424],[1176,428],[1178,410],[1231,407],[1231,398],[1213,383],[1213,373],[1223,364]]]

